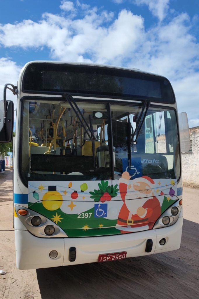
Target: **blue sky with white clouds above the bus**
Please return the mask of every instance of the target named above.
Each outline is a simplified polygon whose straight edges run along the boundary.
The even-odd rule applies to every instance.
[[[32,60],[138,68],[171,82],[199,126],[198,0],[0,0],[0,94]],[[16,96],[7,92],[7,100]]]

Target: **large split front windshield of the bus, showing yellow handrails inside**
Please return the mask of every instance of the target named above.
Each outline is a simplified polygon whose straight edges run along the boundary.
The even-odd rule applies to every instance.
[[[24,98],[20,173],[26,185],[119,179],[124,171],[131,179],[179,179],[174,110],[150,106],[137,136],[140,103],[78,100],[76,105],[79,114],[61,97]]]

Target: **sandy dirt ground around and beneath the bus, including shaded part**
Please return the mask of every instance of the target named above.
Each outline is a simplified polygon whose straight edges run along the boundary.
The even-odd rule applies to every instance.
[[[199,190],[183,188],[181,248],[122,261],[38,270],[15,265],[12,170],[0,175],[0,298],[199,298]]]

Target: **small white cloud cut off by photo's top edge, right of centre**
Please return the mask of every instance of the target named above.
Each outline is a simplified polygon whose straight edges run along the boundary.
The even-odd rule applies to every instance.
[[[137,5],[146,4],[151,13],[162,21],[169,9],[169,0],[134,0]]]

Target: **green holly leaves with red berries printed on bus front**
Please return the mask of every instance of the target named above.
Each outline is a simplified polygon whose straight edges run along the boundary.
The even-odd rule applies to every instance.
[[[112,197],[117,196],[117,185],[108,186],[108,181],[101,181],[101,184],[98,184],[99,189],[94,190],[94,192],[90,191],[91,198],[94,199],[94,202],[105,202],[106,200],[111,200]]]

